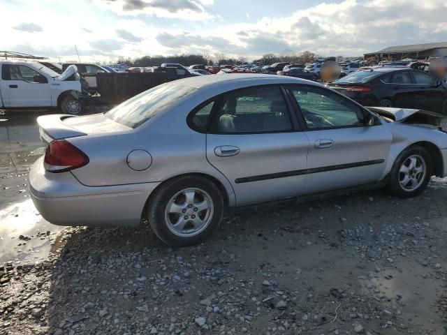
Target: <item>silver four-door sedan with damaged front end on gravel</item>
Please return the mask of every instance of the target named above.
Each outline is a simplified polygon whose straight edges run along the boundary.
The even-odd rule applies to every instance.
[[[31,198],[59,225],[138,225],[187,246],[226,209],[385,187],[402,198],[447,175],[443,115],[367,109],[277,75],[168,82],[109,112],[38,117]]]

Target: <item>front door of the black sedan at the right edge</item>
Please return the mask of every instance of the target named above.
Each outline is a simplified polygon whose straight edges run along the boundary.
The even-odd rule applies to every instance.
[[[411,71],[416,90],[413,95],[413,108],[442,112],[444,103],[444,89],[434,82],[433,77],[419,70]]]

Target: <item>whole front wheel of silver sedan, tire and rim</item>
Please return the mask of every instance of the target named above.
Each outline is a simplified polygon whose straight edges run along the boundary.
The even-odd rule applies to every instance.
[[[392,195],[411,198],[422,193],[432,177],[432,158],[423,147],[409,147],[397,157],[386,189]]]

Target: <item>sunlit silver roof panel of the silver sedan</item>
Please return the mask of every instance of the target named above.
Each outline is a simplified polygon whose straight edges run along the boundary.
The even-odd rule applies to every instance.
[[[200,89],[202,87],[215,86],[219,84],[228,84],[230,82],[247,81],[249,86],[256,86],[262,84],[315,84],[309,80],[286,77],[282,75],[263,75],[261,73],[230,73],[226,75],[203,75],[200,77],[189,77],[182,79],[182,84],[185,86]],[[315,84],[318,85],[318,84]]]

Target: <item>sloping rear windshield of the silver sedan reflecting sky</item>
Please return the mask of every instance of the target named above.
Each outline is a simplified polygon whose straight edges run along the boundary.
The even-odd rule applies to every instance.
[[[124,101],[106,112],[105,116],[124,126],[137,128],[161,110],[195,90],[180,84],[162,84]]]

